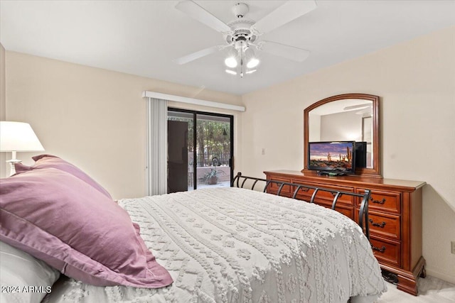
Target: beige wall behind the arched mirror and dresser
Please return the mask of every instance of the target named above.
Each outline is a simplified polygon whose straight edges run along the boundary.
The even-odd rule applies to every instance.
[[[245,175],[301,170],[307,106],[336,94],[380,96],[382,175],[427,182],[427,272],[455,282],[454,54],[455,28],[449,28],[242,96],[240,169]]]

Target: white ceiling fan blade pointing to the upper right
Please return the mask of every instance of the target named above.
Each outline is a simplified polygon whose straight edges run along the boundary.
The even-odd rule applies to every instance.
[[[269,13],[267,16],[257,21],[252,28],[257,33],[264,34],[273,31],[275,28],[293,21],[304,14],[309,13],[316,9],[316,1],[287,1],[282,6]]]

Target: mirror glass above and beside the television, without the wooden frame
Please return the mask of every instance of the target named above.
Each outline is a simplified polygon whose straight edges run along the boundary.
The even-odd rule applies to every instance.
[[[309,142],[366,142],[366,167],[373,168],[373,101],[343,99],[309,111]]]

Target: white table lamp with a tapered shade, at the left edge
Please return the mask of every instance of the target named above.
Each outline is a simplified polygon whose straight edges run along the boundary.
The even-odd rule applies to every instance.
[[[0,151],[11,152],[12,159],[10,176],[16,173],[14,164],[21,162],[16,159],[16,152],[31,152],[44,150],[38,137],[31,128],[30,124],[13,121],[0,121]]]

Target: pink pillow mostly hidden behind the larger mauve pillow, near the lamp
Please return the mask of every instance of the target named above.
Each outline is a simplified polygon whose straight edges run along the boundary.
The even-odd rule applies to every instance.
[[[106,189],[104,189],[99,183],[89,177],[89,175],[87,175],[85,172],[82,172],[82,170],[70,162],[63,160],[62,158],[58,158],[55,155],[36,155],[35,157],[32,157],[32,159],[35,160],[35,164],[33,166],[27,166],[20,163],[16,164],[16,173],[20,174],[21,172],[27,170],[35,170],[38,168],[57,168],[58,170],[68,172],[69,174],[78,177],[80,180],[87,182],[102,194],[105,194],[106,197],[112,199],[111,195],[109,192],[107,192]]]

